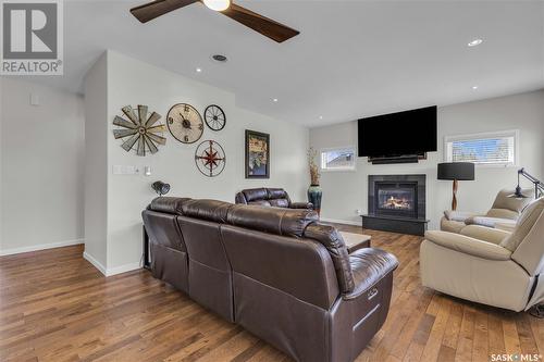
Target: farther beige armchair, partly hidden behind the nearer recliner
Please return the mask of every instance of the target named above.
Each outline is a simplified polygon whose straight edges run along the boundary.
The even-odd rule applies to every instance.
[[[527,195],[532,192],[532,190],[524,190]],[[484,215],[463,211],[444,211],[441,230],[460,234],[467,225],[481,225],[511,232],[523,208],[532,201],[530,198],[510,198],[509,196],[512,194],[514,190],[500,190],[491,210]]]

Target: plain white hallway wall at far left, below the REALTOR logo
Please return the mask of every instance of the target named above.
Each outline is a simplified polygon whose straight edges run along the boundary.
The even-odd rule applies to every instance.
[[[15,78],[1,87],[0,254],[83,242],[83,99]]]

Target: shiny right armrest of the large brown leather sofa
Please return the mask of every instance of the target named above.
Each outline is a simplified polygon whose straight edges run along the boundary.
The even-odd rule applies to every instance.
[[[349,264],[354,274],[355,288],[345,294],[345,300],[356,299],[392,273],[398,266],[395,255],[375,248],[366,248],[349,255]]]

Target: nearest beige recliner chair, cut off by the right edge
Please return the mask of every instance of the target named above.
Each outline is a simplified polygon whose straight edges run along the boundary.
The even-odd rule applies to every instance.
[[[420,270],[423,286],[454,297],[516,312],[543,302],[544,198],[526,208],[512,233],[478,225],[426,232]]]

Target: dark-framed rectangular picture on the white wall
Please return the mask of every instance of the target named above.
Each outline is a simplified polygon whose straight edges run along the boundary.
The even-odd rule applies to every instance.
[[[270,178],[270,135],[246,129],[246,178]]]

